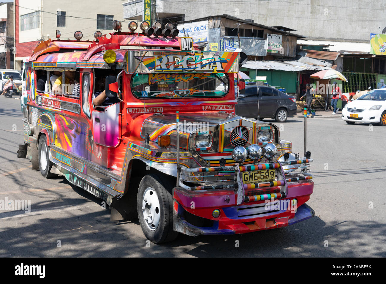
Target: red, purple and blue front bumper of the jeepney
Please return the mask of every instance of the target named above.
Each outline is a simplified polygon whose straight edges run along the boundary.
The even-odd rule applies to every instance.
[[[301,161],[308,163],[312,159]],[[243,167],[240,168],[242,171]],[[283,172],[283,167],[278,170]],[[312,175],[306,172],[303,175],[278,175],[278,179],[284,178],[284,183],[260,184],[261,187],[256,184],[253,189],[239,178],[233,185],[222,188],[174,187],[173,230],[190,236],[240,234],[280,228],[312,218],[315,212],[305,203],[313,192]],[[214,210],[220,211],[217,218],[213,216]]]

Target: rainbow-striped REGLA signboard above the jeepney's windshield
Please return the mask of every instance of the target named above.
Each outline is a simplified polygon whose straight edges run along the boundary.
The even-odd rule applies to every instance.
[[[126,73],[236,73],[238,52],[215,51],[127,51]]]

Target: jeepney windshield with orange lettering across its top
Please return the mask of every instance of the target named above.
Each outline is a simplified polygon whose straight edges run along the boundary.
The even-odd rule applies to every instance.
[[[229,78],[225,73],[137,73],[131,86],[139,99],[223,97]]]

